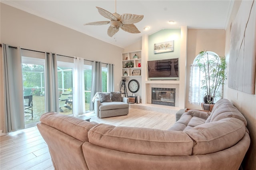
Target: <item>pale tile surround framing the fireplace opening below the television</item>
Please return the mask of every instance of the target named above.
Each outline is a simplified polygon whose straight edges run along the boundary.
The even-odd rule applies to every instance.
[[[158,88],[175,88],[175,107],[179,107],[179,84],[155,84],[155,83],[148,83],[146,84],[146,103],[151,104],[151,93],[152,87]]]

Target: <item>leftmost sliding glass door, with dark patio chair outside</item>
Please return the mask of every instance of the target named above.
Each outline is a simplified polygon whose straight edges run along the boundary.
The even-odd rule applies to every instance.
[[[22,57],[23,98],[26,127],[45,113],[44,59]]]

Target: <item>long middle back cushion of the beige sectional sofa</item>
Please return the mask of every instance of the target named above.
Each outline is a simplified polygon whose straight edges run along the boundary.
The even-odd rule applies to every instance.
[[[159,156],[191,155],[194,144],[185,132],[106,124],[90,129],[88,138],[90,143],[104,148]]]

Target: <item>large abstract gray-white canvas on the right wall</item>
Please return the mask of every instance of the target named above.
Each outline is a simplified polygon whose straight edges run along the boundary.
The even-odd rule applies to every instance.
[[[230,31],[228,87],[255,94],[256,3],[242,1]]]

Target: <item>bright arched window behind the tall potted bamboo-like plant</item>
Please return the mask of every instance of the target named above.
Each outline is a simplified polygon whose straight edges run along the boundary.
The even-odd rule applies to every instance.
[[[208,53],[209,59],[215,59],[214,55],[217,55],[216,53],[211,51],[207,51],[207,53]],[[199,67],[196,65],[196,60],[198,59],[198,57],[199,55],[196,56],[193,64],[190,65],[190,84],[189,84],[188,102],[194,105],[200,105],[201,103],[203,103],[204,102],[203,98],[206,94],[206,91],[201,88],[202,80],[204,79],[204,74],[200,71]],[[204,61],[202,61],[202,64],[203,62]],[[222,95],[222,88],[219,89],[219,92]],[[218,101],[220,98],[221,97],[216,97],[214,99],[214,103],[216,103],[216,101]]]

